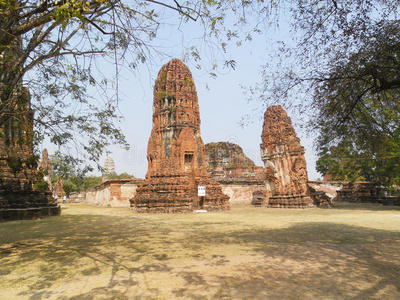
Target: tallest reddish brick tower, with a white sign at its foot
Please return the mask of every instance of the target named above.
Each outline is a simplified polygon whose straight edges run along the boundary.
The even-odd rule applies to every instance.
[[[155,82],[147,160],[146,180],[130,199],[137,211],[229,209],[229,197],[207,172],[196,87],[190,70],[178,59],[165,64]],[[205,197],[198,197],[199,185],[206,186]]]

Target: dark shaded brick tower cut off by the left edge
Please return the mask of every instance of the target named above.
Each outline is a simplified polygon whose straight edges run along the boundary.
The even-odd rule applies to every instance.
[[[16,37],[0,59],[0,221],[60,214],[47,184],[40,185],[29,90],[11,67],[21,45]]]

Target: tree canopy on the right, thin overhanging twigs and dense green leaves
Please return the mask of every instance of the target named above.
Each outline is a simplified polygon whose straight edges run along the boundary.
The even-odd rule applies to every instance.
[[[279,3],[286,4],[281,15],[290,16],[293,40],[271,52],[279,60],[264,66],[254,95],[266,105],[283,102],[307,115],[324,174],[342,180],[396,178],[400,1]]]

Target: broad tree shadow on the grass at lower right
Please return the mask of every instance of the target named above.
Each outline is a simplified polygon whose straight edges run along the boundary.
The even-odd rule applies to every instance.
[[[189,243],[196,245],[201,239],[192,236]],[[211,299],[400,297],[398,231],[310,222],[285,229],[212,234],[207,240],[211,244],[246,245],[249,252],[260,254],[255,261],[231,265],[232,275],[214,274],[208,285],[203,284],[203,290],[220,287]],[[196,278],[196,282],[207,281],[207,275],[193,271],[181,274]],[[188,287],[175,291],[176,296],[199,297],[196,282],[186,282]]]

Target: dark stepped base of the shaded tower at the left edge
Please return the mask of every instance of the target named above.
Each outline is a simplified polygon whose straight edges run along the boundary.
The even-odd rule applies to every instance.
[[[50,200],[49,200],[50,199]],[[58,216],[61,208],[52,200],[50,192],[0,191],[0,222],[10,220],[36,220]],[[6,203],[12,203],[7,205]]]

